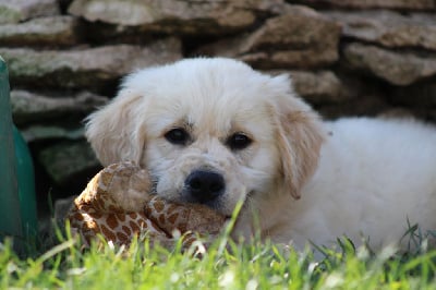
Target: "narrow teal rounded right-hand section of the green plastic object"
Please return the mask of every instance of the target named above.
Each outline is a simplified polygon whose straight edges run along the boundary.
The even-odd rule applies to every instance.
[[[35,198],[35,172],[32,155],[27,143],[13,125],[13,140],[15,145],[16,178],[19,182],[19,200],[23,233],[34,237],[38,229]]]

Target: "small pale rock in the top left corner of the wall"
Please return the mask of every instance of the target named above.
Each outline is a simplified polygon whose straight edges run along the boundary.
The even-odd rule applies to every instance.
[[[58,14],[57,0],[0,0],[0,24]]]

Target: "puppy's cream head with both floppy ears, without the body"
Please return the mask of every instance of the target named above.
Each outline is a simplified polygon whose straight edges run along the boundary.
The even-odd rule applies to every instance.
[[[246,196],[300,189],[322,143],[315,113],[287,76],[230,59],[186,59],[128,76],[119,95],[88,118],[102,165],[133,160],[156,193],[230,215]]]

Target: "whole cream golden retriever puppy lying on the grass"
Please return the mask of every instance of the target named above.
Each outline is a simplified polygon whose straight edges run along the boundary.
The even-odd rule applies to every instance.
[[[436,130],[414,121],[322,122],[292,90],[230,59],[186,59],[129,75],[87,119],[102,165],[133,160],[156,194],[230,216],[233,235],[328,245],[342,234],[398,243],[436,229]]]

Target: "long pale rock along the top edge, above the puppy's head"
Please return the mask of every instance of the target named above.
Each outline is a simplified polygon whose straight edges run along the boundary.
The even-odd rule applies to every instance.
[[[263,5],[262,0],[74,0],[69,13],[90,22],[143,26],[153,32],[226,34],[253,25],[254,10]]]

